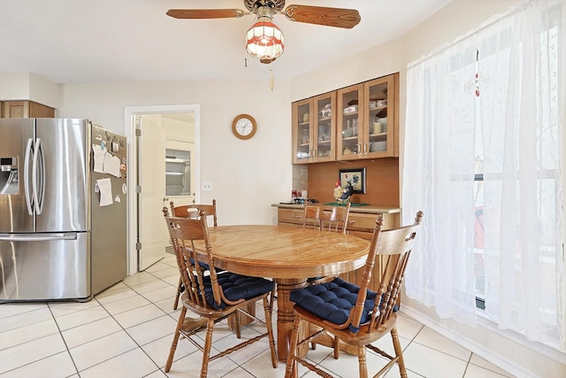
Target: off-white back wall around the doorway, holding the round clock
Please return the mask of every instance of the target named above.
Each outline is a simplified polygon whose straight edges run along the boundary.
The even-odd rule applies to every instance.
[[[223,225],[272,224],[272,203],[287,199],[292,185],[291,104],[286,82],[207,80],[119,84],[65,84],[60,117],[94,120],[125,134],[126,106],[200,104],[201,181],[213,191],[200,201],[218,203]],[[256,118],[256,135],[232,134],[240,113]]]

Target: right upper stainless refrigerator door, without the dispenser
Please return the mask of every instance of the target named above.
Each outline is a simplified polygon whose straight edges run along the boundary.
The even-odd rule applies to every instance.
[[[88,120],[37,119],[35,138],[35,231],[89,230]]]

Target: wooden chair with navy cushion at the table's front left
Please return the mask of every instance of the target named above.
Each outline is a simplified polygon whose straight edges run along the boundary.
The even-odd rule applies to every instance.
[[[177,257],[181,280],[186,288],[180,297],[183,307],[180,311],[175,335],[173,336],[171,351],[165,364],[165,372],[169,372],[171,369],[177,343],[181,335],[187,337],[199,350],[203,351],[201,378],[206,377],[210,361],[226,356],[226,354],[233,351],[238,351],[251,343],[256,343],[265,336],[269,339],[272,366],[277,367],[278,359],[272,329],[274,283],[264,278],[249,277],[230,272],[217,274],[215,269],[210,269],[206,271],[208,274],[204,274],[205,269],[199,264],[200,262],[214,266],[214,247],[210,243],[205,212],[201,210],[196,216],[193,213],[187,214],[191,215],[188,218],[178,218],[168,216],[167,209],[164,208],[164,215]],[[199,256],[195,253],[197,251],[195,243],[199,245],[203,255]],[[194,263],[191,263],[191,261],[194,261]],[[256,316],[246,311],[250,304],[255,304],[260,299],[264,304],[265,321],[257,319]],[[186,317],[187,310],[195,312],[200,318]],[[227,319],[235,312],[240,312],[264,325],[266,332],[245,342],[238,343],[225,351],[219,351],[210,357],[212,333],[215,324],[218,321]],[[238,317],[234,318],[238,319]],[[200,343],[198,342],[200,340],[198,337],[196,339],[192,338],[202,330],[206,330],[205,335],[203,335],[203,346],[201,345],[202,340]],[[235,336],[237,338],[241,337],[239,325],[236,328]]]

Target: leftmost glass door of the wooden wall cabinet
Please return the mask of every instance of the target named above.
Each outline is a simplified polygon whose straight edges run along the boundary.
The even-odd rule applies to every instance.
[[[293,104],[293,162],[307,164],[311,161],[312,98]]]

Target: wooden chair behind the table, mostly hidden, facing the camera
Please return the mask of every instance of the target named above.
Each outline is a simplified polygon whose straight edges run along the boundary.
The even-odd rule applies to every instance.
[[[346,234],[349,213],[349,202],[346,206],[305,204],[302,216],[302,228]],[[310,285],[316,285],[318,283],[332,281],[333,278],[334,277],[310,277],[307,279],[307,282]]]

